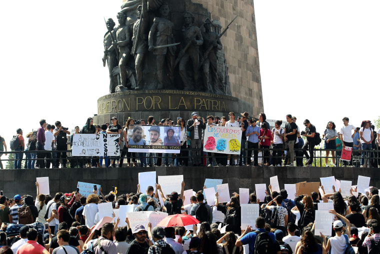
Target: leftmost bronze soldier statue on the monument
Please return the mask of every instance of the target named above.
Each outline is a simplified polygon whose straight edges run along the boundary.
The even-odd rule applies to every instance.
[[[109,93],[115,92],[115,87],[118,84],[118,77],[112,74],[112,69],[117,66],[117,52],[113,48],[112,43],[116,40],[116,31],[113,29],[115,26],[115,22],[112,18],[108,18],[105,21],[105,25],[107,26],[107,32],[104,34],[104,56],[103,56],[103,66],[105,63],[108,65],[109,72]],[[110,48],[110,49],[109,49]]]

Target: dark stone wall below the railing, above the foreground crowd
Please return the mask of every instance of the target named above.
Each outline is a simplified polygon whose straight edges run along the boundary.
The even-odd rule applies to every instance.
[[[357,176],[370,176],[371,186],[380,186],[377,168],[358,167],[150,167],[150,168],[59,168],[59,169],[4,169],[0,170],[0,189],[4,195],[31,194],[35,197],[35,177],[48,176],[50,194],[57,191],[75,190],[78,181],[100,184],[103,193],[108,193],[112,186],[117,186],[118,193],[135,192],[138,173],[156,171],[156,175],[183,174],[185,189],[200,190],[205,178],[223,179],[228,183],[230,193],[238,192],[239,187],[249,188],[252,192],[254,184],[266,183],[269,177],[277,175],[280,188],[284,183],[300,181],[319,181],[319,177],[334,175],[339,180],[351,180],[356,184]]]

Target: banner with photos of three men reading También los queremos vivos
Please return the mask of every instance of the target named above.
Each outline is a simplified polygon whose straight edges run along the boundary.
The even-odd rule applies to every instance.
[[[129,125],[129,152],[179,153],[180,127],[169,125]]]

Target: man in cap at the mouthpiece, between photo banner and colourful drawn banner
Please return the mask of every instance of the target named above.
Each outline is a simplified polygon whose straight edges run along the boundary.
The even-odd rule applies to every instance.
[[[187,131],[190,132],[191,161],[193,166],[203,165],[202,162],[202,129],[206,128],[204,118],[198,119],[198,114],[194,111],[191,118],[187,120]],[[196,153],[196,150],[199,150]]]

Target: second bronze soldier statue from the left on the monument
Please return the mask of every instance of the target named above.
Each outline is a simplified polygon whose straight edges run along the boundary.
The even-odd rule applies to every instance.
[[[132,30],[129,23],[126,22],[126,14],[124,12],[117,13],[117,20],[119,22],[119,28],[116,31],[116,40],[113,42],[114,47],[118,47],[119,51],[119,71],[121,85],[130,89],[131,86],[136,85],[134,80],[133,71],[127,66],[130,50],[129,43],[132,38]],[[127,85],[127,79],[129,78],[129,85]]]

